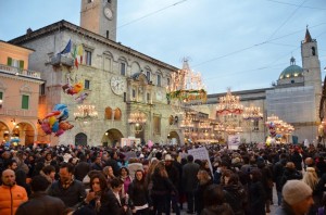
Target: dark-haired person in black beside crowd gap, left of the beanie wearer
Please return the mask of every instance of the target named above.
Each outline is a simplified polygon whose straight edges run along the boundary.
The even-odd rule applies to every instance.
[[[249,207],[252,215],[265,214],[266,193],[262,184],[262,173],[259,169],[250,172]]]

